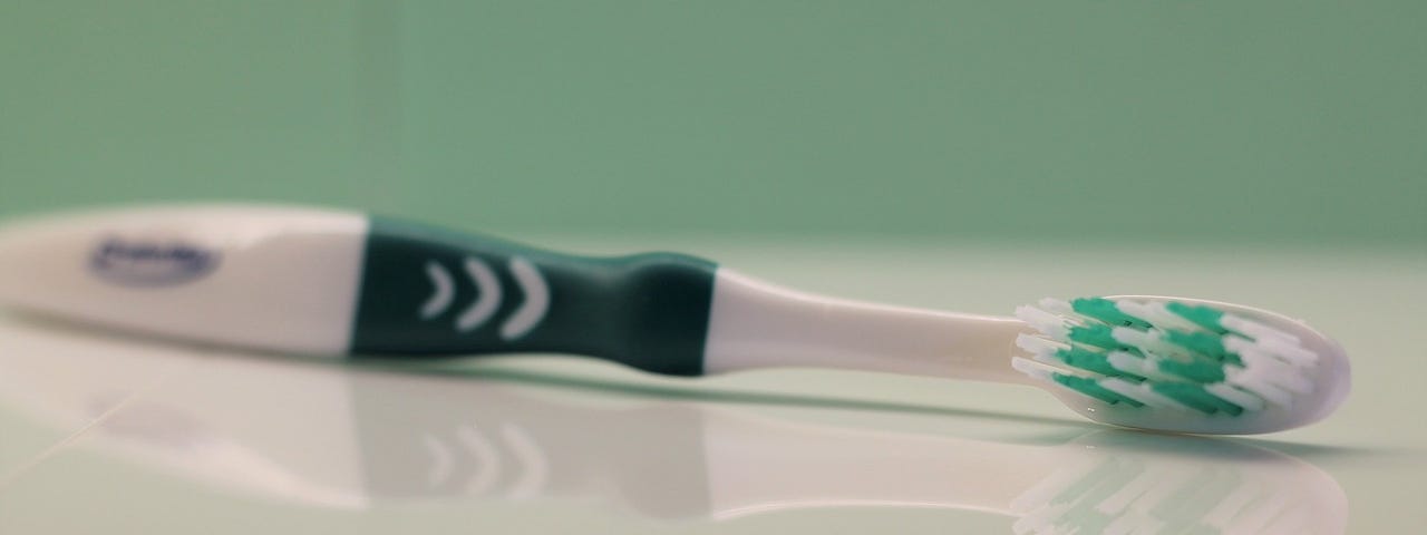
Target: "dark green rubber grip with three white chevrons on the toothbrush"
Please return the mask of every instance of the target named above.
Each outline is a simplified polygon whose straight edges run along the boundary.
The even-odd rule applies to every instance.
[[[372,218],[355,355],[562,352],[701,375],[716,265],[595,258]]]

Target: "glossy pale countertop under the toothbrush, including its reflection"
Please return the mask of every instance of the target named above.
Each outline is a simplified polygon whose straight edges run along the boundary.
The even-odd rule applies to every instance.
[[[1284,532],[1427,525],[1427,248],[675,248],[803,290],[1006,314],[1166,294],[1301,317],[1353,360],[1329,419],[1097,425],[1026,387],[557,355],[334,365],[0,312],[0,534]]]

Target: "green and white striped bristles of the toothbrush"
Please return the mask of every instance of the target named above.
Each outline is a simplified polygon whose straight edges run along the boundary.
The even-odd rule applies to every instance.
[[[1237,417],[1313,392],[1319,355],[1293,334],[1177,301],[1042,300],[1012,365],[1110,405]],[[1032,361],[1033,360],[1033,361]]]

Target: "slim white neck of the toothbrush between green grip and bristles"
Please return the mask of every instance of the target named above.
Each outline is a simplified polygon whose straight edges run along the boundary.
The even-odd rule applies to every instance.
[[[1010,368],[1013,318],[835,300],[719,268],[704,371],[819,367],[1025,382]]]

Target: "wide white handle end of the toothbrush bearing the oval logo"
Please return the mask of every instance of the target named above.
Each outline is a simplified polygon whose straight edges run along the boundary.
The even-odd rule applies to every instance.
[[[181,340],[340,355],[362,214],[186,205],[57,215],[0,234],[0,302]]]

